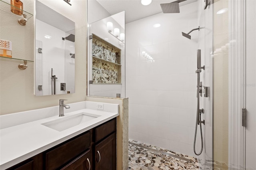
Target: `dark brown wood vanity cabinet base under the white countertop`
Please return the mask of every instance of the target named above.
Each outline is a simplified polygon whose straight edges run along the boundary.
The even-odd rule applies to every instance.
[[[7,170],[116,170],[116,118]]]

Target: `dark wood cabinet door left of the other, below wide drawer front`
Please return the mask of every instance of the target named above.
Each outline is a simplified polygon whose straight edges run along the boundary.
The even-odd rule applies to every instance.
[[[61,170],[92,170],[90,160],[90,150],[88,150]]]

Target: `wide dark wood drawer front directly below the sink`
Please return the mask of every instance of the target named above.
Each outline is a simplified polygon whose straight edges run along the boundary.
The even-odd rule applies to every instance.
[[[57,148],[46,152],[46,169],[60,167],[90,147],[90,132],[83,134]]]

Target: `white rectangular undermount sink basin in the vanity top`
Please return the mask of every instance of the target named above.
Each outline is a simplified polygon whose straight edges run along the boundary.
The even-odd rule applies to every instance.
[[[49,128],[52,128],[54,130],[58,130],[59,132],[61,132],[63,130],[72,128],[76,125],[80,125],[82,123],[85,123],[85,122],[95,119],[97,117],[100,117],[100,115],[94,115],[94,114],[82,112],[82,113],[78,113],[76,115],[63,117],[58,120],[42,123],[41,125],[44,125],[46,127],[49,127]]]

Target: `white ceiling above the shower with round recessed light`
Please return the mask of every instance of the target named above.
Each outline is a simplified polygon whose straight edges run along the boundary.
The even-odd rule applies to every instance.
[[[160,4],[174,2],[176,0],[152,0],[151,4],[144,6],[140,0],[97,0],[111,15],[125,11],[125,23],[133,22],[162,12]],[[180,2],[183,6],[197,0]]]

